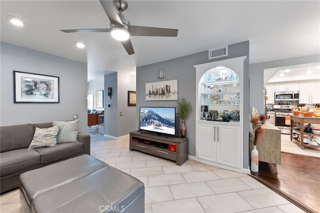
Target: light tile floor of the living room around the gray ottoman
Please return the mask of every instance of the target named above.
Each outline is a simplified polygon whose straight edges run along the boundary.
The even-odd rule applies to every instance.
[[[254,178],[188,159],[183,165],[129,151],[129,137],[91,135],[91,155],[144,182],[145,212],[304,212]],[[0,196],[0,212],[21,212],[19,191]]]

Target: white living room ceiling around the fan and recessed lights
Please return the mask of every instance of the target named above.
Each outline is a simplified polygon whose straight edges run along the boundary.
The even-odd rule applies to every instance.
[[[87,62],[88,79],[180,57],[225,44],[250,41],[249,63],[320,53],[320,1],[127,0],[132,25],[177,28],[177,37],[132,36],[128,55],[108,32],[59,29],[109,28],[98,0],[1,0],[1,41]],[[7,15],[26,25],[9,24]],[[77,49],[75,41],[85,43]],[[156,71],[154,73],[156,75]]]

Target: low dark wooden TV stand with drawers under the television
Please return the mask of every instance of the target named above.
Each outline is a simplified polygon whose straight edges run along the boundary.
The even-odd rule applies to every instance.
[[[148,141],[150,144],[145,144],[144,141]],[[164,148],[159,147],[162,145],[164,145]],[[167,147],[168,145],[170,145],[173,150],[175,148],[175,151],[170,150],[170,147]],[[188,158],[188,138],[154,135],[143,131],[131,131],[129,149],[130,151],[135,149],[174,160],[177,165],[182,165]]]

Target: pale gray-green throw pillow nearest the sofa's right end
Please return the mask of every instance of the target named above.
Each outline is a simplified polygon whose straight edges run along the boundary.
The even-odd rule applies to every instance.
[[[52,121],[53,126],[59,126],[57,143],[78,141],[79,119],[70,121]]]

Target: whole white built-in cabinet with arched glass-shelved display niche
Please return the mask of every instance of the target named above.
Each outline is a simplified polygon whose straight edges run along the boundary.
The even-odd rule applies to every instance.
[[[245,57],[194,65],[196,69],[195,160],[247,173],[249,170],[243,168],[243,162],[248,161],[243,159],[243,137],[248,132],[243,120],[249,114],[249,106],[243,100]],[[205,119],[203,106],[212,111],[217,110],[218,113],[238,112],[239,120],[233,117],[229,121],[222,120],[220,116],[213,120]]]

